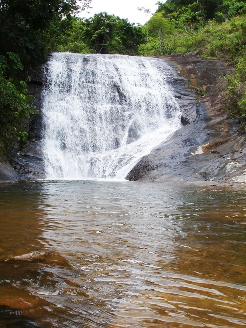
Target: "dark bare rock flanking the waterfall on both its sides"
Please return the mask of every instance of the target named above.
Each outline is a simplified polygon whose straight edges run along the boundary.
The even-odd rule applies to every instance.
[[[223,76],[230,68],[198,55],[159,57],[168,61],[182,127],[144,156],[128,180],[192,185],[246,185],[246,142],[238,124],[223,111]],[[45,178],[41,155],[41,90],[44,68],[31,72],[29,90],[37,113],[29,123],[29,141],[0,163],[0,182]],[[197,94],[197,90],[206,95]]]

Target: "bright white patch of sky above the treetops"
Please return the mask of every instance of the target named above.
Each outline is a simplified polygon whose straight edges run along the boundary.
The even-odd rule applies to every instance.
[[[79,16],[89,18],[100,11],[106,11],[108,14],[114,14],[120,18],[128,18],[130,23],[140,23],[144,25],[151,17],[151,14],[157,9],[157,5],[155,5],[157,1],[158,0],[92,0],[92,9],[82,11]],[[138,7],[150,9],[150,13],[145,14],[143,11],[139,11],[137,9]]]

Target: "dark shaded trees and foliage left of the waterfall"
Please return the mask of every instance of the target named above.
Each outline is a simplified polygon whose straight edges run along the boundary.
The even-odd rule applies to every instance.
[[[34,110],[28,70],[46,60],[54,26],[78,9],[76,0],[0,0],[0,155],[28,137],[24,122]]]

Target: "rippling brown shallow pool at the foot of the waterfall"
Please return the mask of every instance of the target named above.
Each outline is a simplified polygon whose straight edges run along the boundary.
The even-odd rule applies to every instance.
[[[245,232],[243,190],[1,184],[0,327],[245,327]]]

